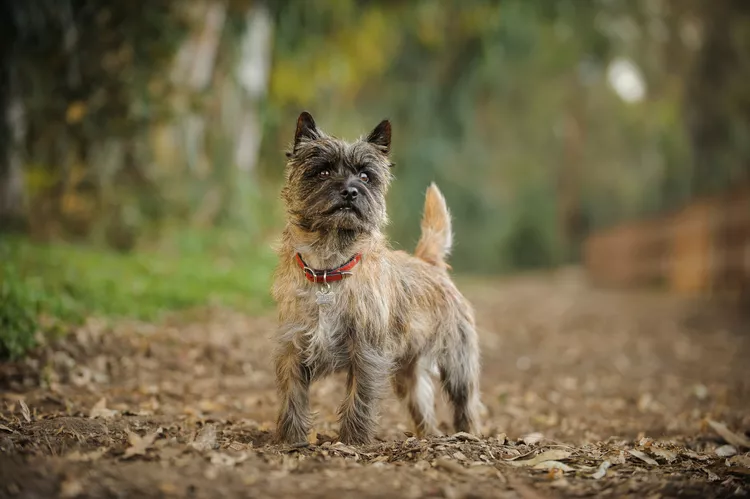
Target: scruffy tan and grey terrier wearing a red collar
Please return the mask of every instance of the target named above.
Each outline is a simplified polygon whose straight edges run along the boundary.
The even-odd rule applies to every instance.
[[[437,433],[434,366],[455,430],[478,431],[479,347],[471,306],[448,275],[450,215],[431,185],[414,256],[389,248],[382,230],[390,149],[387,120],[353,143],[324,133],[307,112],[297,120],[273,286],[280,442],[307,441],[310,384],[342,370],[342,442],[371,441],[389,380],[416,433]]]

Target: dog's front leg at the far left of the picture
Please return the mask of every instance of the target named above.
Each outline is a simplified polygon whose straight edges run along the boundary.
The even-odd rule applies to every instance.
[[[279,442],[307,442],[312,425],[309,389],[310,369],[302,363],[295,346],[288,342],[276,356],[276,384],[281,399],[281,410],[276,422]]]

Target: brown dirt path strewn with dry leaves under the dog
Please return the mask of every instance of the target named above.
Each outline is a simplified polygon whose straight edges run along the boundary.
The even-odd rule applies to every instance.
[[[335,378],[313,388],[315,444],[272,446],[272,318],[91,321],[0,366],[0,496],[747,496],[750,326],[566,275],[462,286],[481,328],[482,440],[410,437],[388,399],[380,442],[337,444]],[[717,456],[726,439],[737,455]],[[543,452],[543,469],[523,463]]]

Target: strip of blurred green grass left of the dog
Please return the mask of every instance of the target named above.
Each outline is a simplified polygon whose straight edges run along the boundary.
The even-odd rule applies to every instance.
[[[157,320],[212,304],[250,313],[271,304],[274,255],[240,233],[177,232],[128,254],[0,237],[4,358],[23,355],[37,332],[64,331],[89,315]]]

